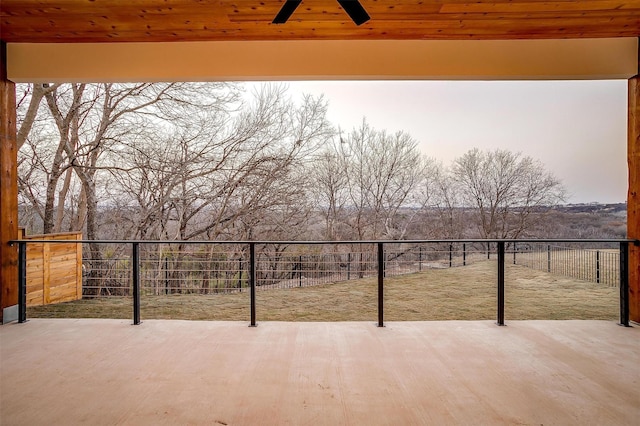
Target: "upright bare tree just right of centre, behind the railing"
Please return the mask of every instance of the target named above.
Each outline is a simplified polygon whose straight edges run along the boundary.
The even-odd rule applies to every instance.
[[[378,131],[366,121],[327,144],[309,171],[324,238],[404,238],[417,212],[423,167],[417,143],[408,134]],[[354,260],[362,277],[367,254],[359,245],[352,250],[359,252]],[[343,257],[331,255],[338,262]]]

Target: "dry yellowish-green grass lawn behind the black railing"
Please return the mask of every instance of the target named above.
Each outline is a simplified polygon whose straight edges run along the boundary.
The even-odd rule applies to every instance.
[[[518,265],[505,267],[505,319],[619,318],[619,290]],[[385,279],[385,321],[496,318],[495,261]],[[257,321],[377,320],[377,279],[256,292]],[[29,308],[29,317],[131,318],[131,298]],[[143,296],[145,319],[249,321],[249,293]]]

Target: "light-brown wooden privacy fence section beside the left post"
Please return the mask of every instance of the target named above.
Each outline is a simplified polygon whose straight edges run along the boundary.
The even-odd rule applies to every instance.
[[[69,232],[21,236],[24,240],[81,240]],[[82,299],[82,244],[27,244],[27,306]]]

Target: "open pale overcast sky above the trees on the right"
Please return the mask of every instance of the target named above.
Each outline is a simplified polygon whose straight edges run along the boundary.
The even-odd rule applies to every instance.
[[[626,80],[287,84],[294,98],[324,94],[345,132],[366,117],[445,164],[474,147],[520,151],[563,181],[570,203],[626,200]]]

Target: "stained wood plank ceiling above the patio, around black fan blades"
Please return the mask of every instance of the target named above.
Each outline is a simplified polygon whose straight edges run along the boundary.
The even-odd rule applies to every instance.
[[[356,26],[335,0],[1,0],[5,42],[562,39],[640,36],[640,0],[361,0]]]

